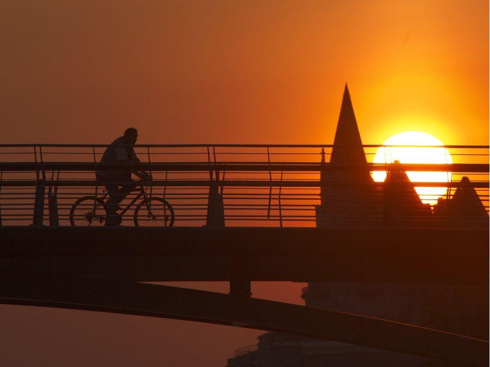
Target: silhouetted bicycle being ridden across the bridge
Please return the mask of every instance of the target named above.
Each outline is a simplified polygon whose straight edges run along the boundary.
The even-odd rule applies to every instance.
[[[165,199],[155,196],[147,196],[143,185],[140,185],[138,194],[121,213],[117,215],[117,224],[121,224],[124,213],[143,196],[143,200],[134,209],[134,225],[172,227],[175,215],[172,206]],[[133,191],[134,192],[134,191]],[[105,226],[107,220],[107,204],[104,199],[108,192],[104,190],[101,198],[97,196],[84,196],[78,199],[70,210],[70,223],[75,227],[99,227]]]

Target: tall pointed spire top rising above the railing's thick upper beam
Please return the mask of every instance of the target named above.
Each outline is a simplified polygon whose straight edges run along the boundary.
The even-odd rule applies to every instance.
[[[359,134],[356,116],[350,100],[349,89],[347,88],[347,83],[345,83],[339,122],[335,132],[334,145],[336,146],[332,149],[330,162],[367,163],[362,144],[361,134]]]

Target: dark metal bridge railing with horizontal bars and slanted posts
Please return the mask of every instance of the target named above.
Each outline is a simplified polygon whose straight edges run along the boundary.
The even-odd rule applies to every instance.
[[[99,161],[106,148],[0,145],[1,225],[70,225],[72,206],[80,197],[104,195],[106,188],[97,180],[96,171],[135,169],[152,174],[151,185],[145,186],[147,195],[170,203],[174,226],[447,227],[488,223],[489,146],[424,147],[435,149],[425,151],[429,156],[440,155],[440,149],[450,154],[448,158],[444,153],[437,164],[392,164],[395,146],[364,145],[368,163],[350,164],[331,157],[333,145],[187,144],[136,145],[141,163],[104,165]],[[355,149],[341,148],[345,152]],[[373,162],[379,149],[390,158],[388,163]],[[430,182],[430,177],[422,176],[420,181],[428,182],[408,181],[405,172],[414,171],[439,172],[446,179]],[[386,179],[374,182],[368,172],[384,173]],[[437,187],[442,191],[436,194],[419,190]],[[128,195],[122,206],[136,195]],[[133,225],[138,202],[124,212],[123,225]]]

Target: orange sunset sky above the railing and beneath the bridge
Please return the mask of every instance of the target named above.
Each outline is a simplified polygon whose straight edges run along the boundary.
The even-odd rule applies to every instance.
[[[487,0],[19,0],[0,24],[0,143],[110,143],[134,126],[140,143],[331,144],[345,82],[364,143],[489,143]],[[300,286],[252,291],[300,303]],[[259,334],[0,313],[9,366],[224,366]]]

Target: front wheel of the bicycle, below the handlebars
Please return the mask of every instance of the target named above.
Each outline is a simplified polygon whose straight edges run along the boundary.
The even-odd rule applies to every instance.
[[[134,209],[134,225],[139,227],[172,227],[173,208],[167,200],[151,197]]]

